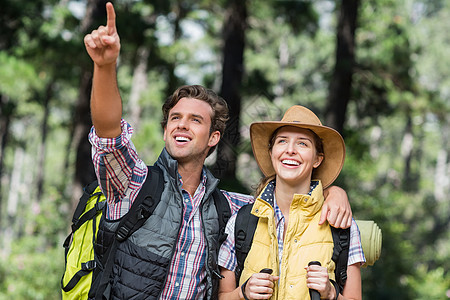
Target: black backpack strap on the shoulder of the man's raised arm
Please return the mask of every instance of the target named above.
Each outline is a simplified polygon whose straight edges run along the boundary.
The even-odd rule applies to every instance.
[[[95,292],[95,299],[103,299],[103,293],[108,287],[114,265],[114,257],[119,243],[131,236],[152,215],[161,200],[163,189],[164,178],[161,169],[156,165],[148,166],[147,178],[136,200],[131,205],[130,210],[122,217],[115,233],[114,242],[105,253],[107,260],[103,273],[101,273],[100,278],[97,278],[99,281],[91,287],[91,291]]]

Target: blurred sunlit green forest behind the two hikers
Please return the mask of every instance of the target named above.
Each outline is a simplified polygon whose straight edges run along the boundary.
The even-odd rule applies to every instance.
[[[103,0],[0,1],[0,299],[59,299],[62,242],[94,179],[92,62]],[[336,181],[383,233],[364,299],[450,298],[450,1],[117,0],[118,81],[141,157],[161,105],[203,84],[231,119],[208,161],[222,187],[261,174],[248,127],[301,104],[346,140]]]

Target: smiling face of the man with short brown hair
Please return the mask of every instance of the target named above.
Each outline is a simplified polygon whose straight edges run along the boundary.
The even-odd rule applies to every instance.
[[[164,128],[164,141],[169,154],[178,163],[203,162],[211,147],[220,139],[220,133],[211,128],[211,106],[201,100],[182,98],[169,111]]]

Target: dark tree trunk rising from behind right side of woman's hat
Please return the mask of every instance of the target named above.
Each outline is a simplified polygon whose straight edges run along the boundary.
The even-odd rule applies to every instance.
[[[359,0],[343,0],[337,28],[336,62],[330,80],[325,124],[341,134],[350,101],[355,64],[355,30]]]

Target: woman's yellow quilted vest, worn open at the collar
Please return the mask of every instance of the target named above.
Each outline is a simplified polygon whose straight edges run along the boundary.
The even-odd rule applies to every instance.
[[[261,199],[266,188],[253,205],[252,214],[259,217],[259,221],[239,285],[253,273],[271,268],[274,270],[272,274],[280,276],[280,279],[275,282],[270,299],[309,299],[305,270],[308,262],[320,261],[322,266],[327,267],[330,279],[335,280],[335,264],[331,259],[334,247],[331,229],[327,222],[318,225],[324,202],[322,184],[318,182],[311,196],[294,195],[289,209],[289,223],[285,228],[281,265],[278,259],[274,209]]]

